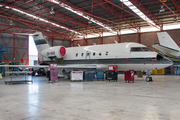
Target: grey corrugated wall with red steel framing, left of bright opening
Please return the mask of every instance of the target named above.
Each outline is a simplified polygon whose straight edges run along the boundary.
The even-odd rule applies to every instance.
[[[0,44],[8,43],[8,60],[17,64],[28,64],[28,36],[0,33]],[[2,61],[7,62],[6,52],[2,53]],[[23,62],[23,63],[22,63]]]

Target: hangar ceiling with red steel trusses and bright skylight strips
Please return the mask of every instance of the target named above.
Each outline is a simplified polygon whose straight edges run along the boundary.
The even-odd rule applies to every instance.
[[[179,0],[0,0],[0,32],[70,40],[180,21]]]

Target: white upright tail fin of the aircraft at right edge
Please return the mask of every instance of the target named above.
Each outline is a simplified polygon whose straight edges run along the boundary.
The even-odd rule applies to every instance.
[[[157,33],[159,44],[170,49],[179,50],[179,46],[174,42],[174,40],[169,36],[167,32]]]

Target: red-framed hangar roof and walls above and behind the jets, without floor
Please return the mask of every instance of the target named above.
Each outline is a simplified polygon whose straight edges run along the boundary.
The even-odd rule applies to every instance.
[[[42,32],[51,46],[117,41],[142,43],[157,51],[151,47],[158,43],[156,33],[167,31],[179,45],[177,0],[2,0],[0,9],[0,44],[8,43],[8,52],[1,52],[1,62],[29,64],[28,37],[14,33]],[[168,26],[175,28],[168,30]]]

